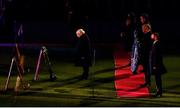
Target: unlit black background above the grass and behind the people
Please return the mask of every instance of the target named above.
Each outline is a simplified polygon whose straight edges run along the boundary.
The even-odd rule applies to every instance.
[[[148,13],[152,30],[159,32],[164,48],[178,50],[178,0],[9,0],[6,22],[24,25],[25,43],[74,44],[75,30],[83,27],[92,43],[119,43],[128,12]],[[10,25],[10,24],[9,24]],[[11,28],[12,29],[12,28]],[[8,32],[9,33],[9,32]],[[1,42],[13,42],[7,32]]]

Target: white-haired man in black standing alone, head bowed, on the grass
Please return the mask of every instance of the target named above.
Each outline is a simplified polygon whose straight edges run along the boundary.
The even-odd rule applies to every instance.
[[[81,79],[88,79],[89,67],[92,65],[90,40],[83,29],[78,29],[76,35],[79,39],[77,44],[78,62],[83,67]]]

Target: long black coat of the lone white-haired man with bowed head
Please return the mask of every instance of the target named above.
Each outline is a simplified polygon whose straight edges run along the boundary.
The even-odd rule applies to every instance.
[[[92,57],[91,57],[91,44],[88,35],[84,34],[79,38],[79,41],[77,43],[77,59],[76,59],[76,65],[82,66],[92,65]]]

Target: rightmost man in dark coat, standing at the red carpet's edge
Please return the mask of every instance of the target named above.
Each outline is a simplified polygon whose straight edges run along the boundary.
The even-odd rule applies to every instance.
[[[163,58],[160,49],[158,33],[152,33],[151,39],[153,40],[152,48],[150,51],[150,72],[155,75],[157,92],[156,97],[162,96],[162,79],[161,75],[166,73],[166,68],[163,64]]]

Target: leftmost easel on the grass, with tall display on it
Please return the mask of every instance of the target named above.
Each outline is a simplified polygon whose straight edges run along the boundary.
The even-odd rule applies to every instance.
[[[15,22],[15,26],[16,26],[16,22]],[[29,83],[25,83],[24,80],[23,80],[23,74],[24,74],[24,56],[20,53],[20,51],[19,51],[19,44],[17,43],[17,37],[21,36],[22,33],[23,33],[22,29],[23,29],[22,24],[20,25],[18,30],[16,30],[16,27],[15,27],[15,35],[17,34],[15,36],[15,51],[14,51],[15,54],[12,57],[12,60],[11,60],[11,65],[10,65],[10,68],[9,68],[9,73],[8,73],[8,77],[7,77],[7,80],[6,80],[6,83],[5,83],[4,91],[7,91],[7,89],[8,89],[8,85],[9,85],[9,81],[10,81],[10,77],[11,77],[11,73],[12,73],[13,64],[16,65],[16,68],[17,68],[17,71],[18,71],[18,76],[17,76],[17,79],[16,79],[16,86],[14,88],[15,92],[18,92],[19,87],[20,87],[20,82],[22,83],[24,89],[28,89],[30,87],[30,84]]]

